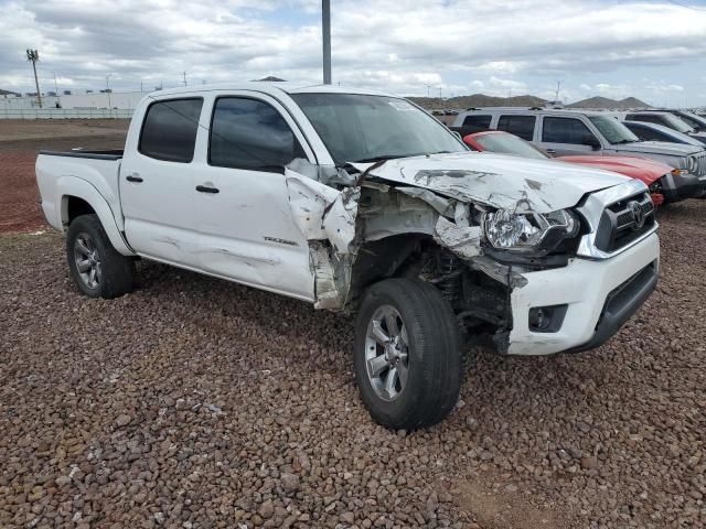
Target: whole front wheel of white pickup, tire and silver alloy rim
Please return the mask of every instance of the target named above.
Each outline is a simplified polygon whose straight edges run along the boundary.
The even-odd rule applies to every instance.
[[[368,289],[355,333],[355,376],[378,423],[414,430],[458,400],[462,361],[451,306],[432,285],[389,279]]]

